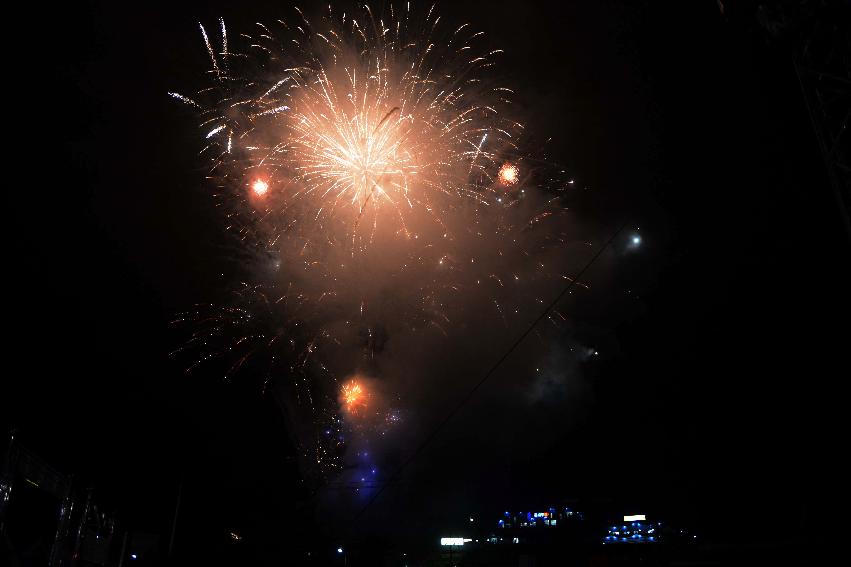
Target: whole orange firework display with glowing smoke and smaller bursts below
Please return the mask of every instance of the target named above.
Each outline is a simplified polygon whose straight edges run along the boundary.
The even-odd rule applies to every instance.
[[[346,420],[399,421],[353,378],[381,374],[388,337],[508,327],[569,277],[570,185],[524,154],[513,91],[492,78],[501,50],[433,7],[296,9],[238,45],[219,27],[200,27],[208,84],[169,94],[197,113],[249,282],[181,315],[194,331],[180,351],[274,381],[327,476]]]

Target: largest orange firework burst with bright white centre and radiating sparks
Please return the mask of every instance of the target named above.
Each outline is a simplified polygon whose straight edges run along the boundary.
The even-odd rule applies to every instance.
[[[299,11],[282,23],[289,46],[258,24],[244,74],[249,54],[229,50],[224,23],[221,49],[201,27],[214,84],[172,96],[201,111],[212,169],[235,202],[245,178],[268,178],[252,185],[276,196],[263,226],[238,205],[231,217],[244,238],[274,245],[299,223],[346,235],[355,252],[379,222],[410,238],[423,224],[413,217],[439,226],[448,207],[491,200],[497,156],[522,130],[501,112],[511,90],[483,76],[501,50],[483,51],[468,24],[440,29],[433,7],[415,20],[409,6],[391,6],[387,21],[369,6],[360,18],[329,7],[315,25]]]

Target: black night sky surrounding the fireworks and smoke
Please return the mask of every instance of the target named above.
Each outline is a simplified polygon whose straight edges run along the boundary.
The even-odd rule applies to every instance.
[[[6,49],[0,431],[14,424],[150,530],[185,474],[187,538],[273,533],[302,496],[275,404],[167,358],[173,314],[221,289],[226,242],[191,119],[166,92],[202,69],[198,20],[236,30],[277,15],[236,4],[67,6],[18,18]],[[611,284],[640,300],[579,315],[617,348],[583,369],[578,417],[531,466],[509,454],[494,474],[518,505],[613,498],[708,530],[732,517],[729,537],[804,508],[820,525],[838,480],[851,255],[791,60],[714,0],[459,4],[441,11],[506,49],[529,124],[593,188],[583,206],[646,241]],[[487,486],[475,451],[434,451],[452,466],[414,475],[412,492]]]

